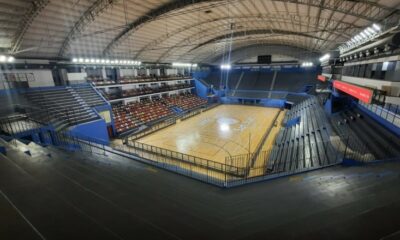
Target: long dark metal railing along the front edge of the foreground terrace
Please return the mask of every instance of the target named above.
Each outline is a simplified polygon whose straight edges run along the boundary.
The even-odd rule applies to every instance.
[[[3,127],[3,124],[4,121],[0,121],[0,127]],[[51,138],[49,144],[61,149],[100,155],[110,152],[220,187],[233,187],[316,170],[340,164],[343,159],[365,163],[375,160],[400,160],[400,150],[395,146],[381,149],[381,153],[385,153],[381,156],[371,150],[371,145],[379,144],[378,142],[360,143],[352,137],[292,146],[274,145],[269,151],[233,156],[229,162],[219,163],[134,141],[111,149],[91,138],[82,139],[52,130],[47,134]],[[254,159],[252,165],[248,164],[251,159]]]

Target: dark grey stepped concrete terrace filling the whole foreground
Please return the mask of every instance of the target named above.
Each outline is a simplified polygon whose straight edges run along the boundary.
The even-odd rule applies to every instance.
[[[400,239],[399,163],[220,189],[121,157],[27,148],[0,156],[2,240]]]

